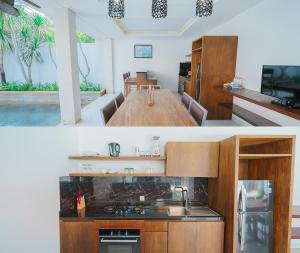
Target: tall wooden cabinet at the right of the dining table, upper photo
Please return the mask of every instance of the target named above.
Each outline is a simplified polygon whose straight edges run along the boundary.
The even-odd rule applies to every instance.
[[[232,105],[233,98],[224,94],[222,87],[234,79],[237,45],[237,36],[204,36],[193,41],[192,79],[188,93],[196,98],[197,76],[200,76],[198,102],[208,110],[207,119],[226,120],[232,117],[228,105]]]

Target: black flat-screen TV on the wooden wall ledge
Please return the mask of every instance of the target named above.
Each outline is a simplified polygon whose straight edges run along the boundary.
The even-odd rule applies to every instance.
[[[261,93],[300,102],[300,66],[263,66]]]

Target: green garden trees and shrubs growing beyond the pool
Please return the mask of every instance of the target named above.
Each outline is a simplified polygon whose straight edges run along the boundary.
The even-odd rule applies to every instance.
[[[47,52],[51,64],[57,69],[55,61],[55,36],[52,20],[22,5],[17,6],[20,16],[14,17],[0,12],[0,91],[58,91],[59,84],[55,82],[36,81],[33,65],[44,64]],[[94,43],[95,40],[77,32],[79,54],[83,66],[79,66],[81,91],[101,91],[101,85],[89,80],[91,67],[82,44]],[[45,50],[46,49],[46,50]],[[5,55],[15,57],[22,80],[7,80]],[[49,62],[47,63],[49,64]]]

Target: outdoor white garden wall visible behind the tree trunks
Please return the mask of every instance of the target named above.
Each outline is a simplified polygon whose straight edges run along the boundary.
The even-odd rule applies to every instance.
[[[82,44],[82,48],[87,55],[87,59],[89,61],[90,68],[91,68],[91,73],[88,76],[88,80],[97,84],[101,84],[102,86],[105,87],[103,41],[99,40],[97,41],[97,43],[94,44],[89,44],[89,43]],[[37,62],[34,62],[32,66],[33,82],[34,83],[57,82],[57,71],[51,61],[48,46],[43,46],[41,48],[41,54],[43,56],[44,62],[42,64],[38,64]],[[55,59],[56,58],[55,48],[52,48],[52,54]],[[83,72],[86,72],[85,61],[79,49],[78,49],[78,62]],[[7,81],[25,82],[20,66],[18,65],[16,56],[13,53],[5,53],[4,68],[6,72]]]

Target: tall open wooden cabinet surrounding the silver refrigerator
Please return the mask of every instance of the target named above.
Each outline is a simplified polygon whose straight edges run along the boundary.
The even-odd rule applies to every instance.
[[[290,253],[294,136],[234,136],[220,143],[219,177],[208,205],[225,217],[225,252],[237,252],[238,180],[273,180],[273,253]]]

